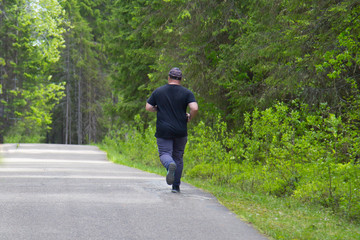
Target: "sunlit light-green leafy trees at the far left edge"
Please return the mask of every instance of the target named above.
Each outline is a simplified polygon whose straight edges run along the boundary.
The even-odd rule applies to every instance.
[[[62,8],[55,0],[0,6],[2,134],[43,136],[50,106],[62,97],[61,84],[48,73],[63,44]]]

